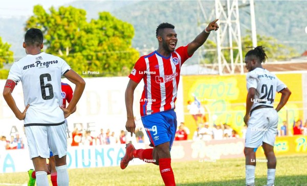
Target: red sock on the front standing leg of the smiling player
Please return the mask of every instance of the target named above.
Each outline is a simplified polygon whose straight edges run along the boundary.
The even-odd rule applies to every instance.
[[[175,186],[175,177],[170,166],[170,158],[160,158],[159,168],[165,186]]]

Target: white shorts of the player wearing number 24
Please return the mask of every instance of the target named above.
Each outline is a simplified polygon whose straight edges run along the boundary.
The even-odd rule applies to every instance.
[[[278,114],[274,108],[259,108],[252,112],[246,131],[245,147],[258,148],[262,142],[274,146]]]

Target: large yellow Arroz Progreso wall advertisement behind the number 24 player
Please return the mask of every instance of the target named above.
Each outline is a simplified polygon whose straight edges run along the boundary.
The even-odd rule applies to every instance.
[[[292,91],[292,95],[283,109],[278,112],[279,127],[282,121],[288,121],[288,128],[292,128],[293,121],[302,119],[302,75],[278,74],[276,75]],[[193,131],[199,123],[204,123],[204,118],[195,121],[188,110],[188,101],[194,102],[195,98],[201,103],[205,111],[205,118],[209,126],[228,124],[239,135],[244,127],[243,118],[246,106],[246,75],[195,75],[183,76],[183,96],[185,125]],[[276,94],[274,107],[279,103],[281,94]]]

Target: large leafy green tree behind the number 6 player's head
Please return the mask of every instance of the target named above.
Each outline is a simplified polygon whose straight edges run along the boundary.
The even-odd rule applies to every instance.
[[[134,28],[108,12],[98,19],[86,21],[86,12],[72,6],[50,8],[47,13],[40,5],[26,24],[42,30],[46,52],[61,56],[79,74],[99,72],[93,76],[127,75],[139,57],[131,48]],[[91,75],[90,75],[91,76]]]

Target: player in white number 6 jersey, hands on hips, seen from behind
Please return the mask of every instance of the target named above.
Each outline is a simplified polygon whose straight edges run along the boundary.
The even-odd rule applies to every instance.
[[[30,158],[33,161],[36,185],[48,185],[46,158],[52,150],[58,185],[68,185],[66,164],[67,138],[64,118],[69,117],[85,87],[84,80],[61,58],[40,52],[43,35],[39,29],[29,29],[23,47],[27,56],[16,61],[9,72],[3,96],[16,118],[24,120]],[[61,76],[76,85],[67,108],[61,104]],[[23,84],[26,109],[20,112],[12,97],[15,85]]]

